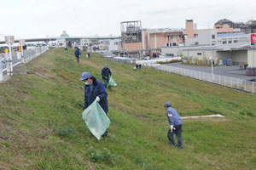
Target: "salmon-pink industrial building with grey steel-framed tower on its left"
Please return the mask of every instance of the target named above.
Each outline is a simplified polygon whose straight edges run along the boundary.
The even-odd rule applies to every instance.
[[[183,46],[183,29],[143,29],[140,20],[121,22],[120,56],[156,57],[163,46]]]

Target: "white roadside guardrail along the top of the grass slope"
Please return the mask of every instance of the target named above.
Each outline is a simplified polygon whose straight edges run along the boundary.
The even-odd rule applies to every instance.
[[[21,59],[16,59],[18,62],[13,63],[13,66],[25,65],[30,60],[38,57],[38,55],[44,54],[44,52],[46,52],[48,49],[49,49],[48,47],[40,47],[40,48],[24,51],[23,57]],[[8,59],[9,59],[9,55],[4,55],[2,59],[0,58],[0,82],[3,81],[3,72],[7,70],[7,68],[3,69],[3,65],[7,63]],[[14,62],[14,59],[12,60],[12,62]]]

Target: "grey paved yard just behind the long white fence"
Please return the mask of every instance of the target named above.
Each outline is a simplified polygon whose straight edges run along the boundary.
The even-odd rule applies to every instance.
[[[189,69],[193,71],[201,71],[212,73],[212,68],[209,66],[194,66],[194,65],[182,65],[181,63],[171,63],[166,65],[172,65],[179,68]],[[232,65],[232,66],[215,66],[213,67],[213,73],[225,77],[234,77],[243,80],[251,80],[256,79],[256,76],[247,76],[245,70],[239,70],[239,65]]]

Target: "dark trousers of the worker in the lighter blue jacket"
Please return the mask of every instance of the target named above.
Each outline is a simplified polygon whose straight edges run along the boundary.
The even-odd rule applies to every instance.
[[[177,126],[175,126],[175,129],[172,130],[172,132],[171,132],[171,129],[169,129],[169,131],[167,133],[167,137],[168,137],[169,141],[174,146],[176,146],[176,143],[173,138],[173,135],[176,134],[177,147],[179,147],[179,148],[183,148],[182,128],[183,128],[182,125],[177,125]]]

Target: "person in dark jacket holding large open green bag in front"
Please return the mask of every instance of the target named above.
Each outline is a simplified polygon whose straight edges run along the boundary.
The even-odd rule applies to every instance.
[[[106,88],[101,81],[92,77],[89,72],[83,72],[80,81],[84,81],[84,109],[89,107],[95,100],[101,105],[106,115],[108,113],[108,94]],[[105,138],[108,135],[108,130],[102,134]]]

